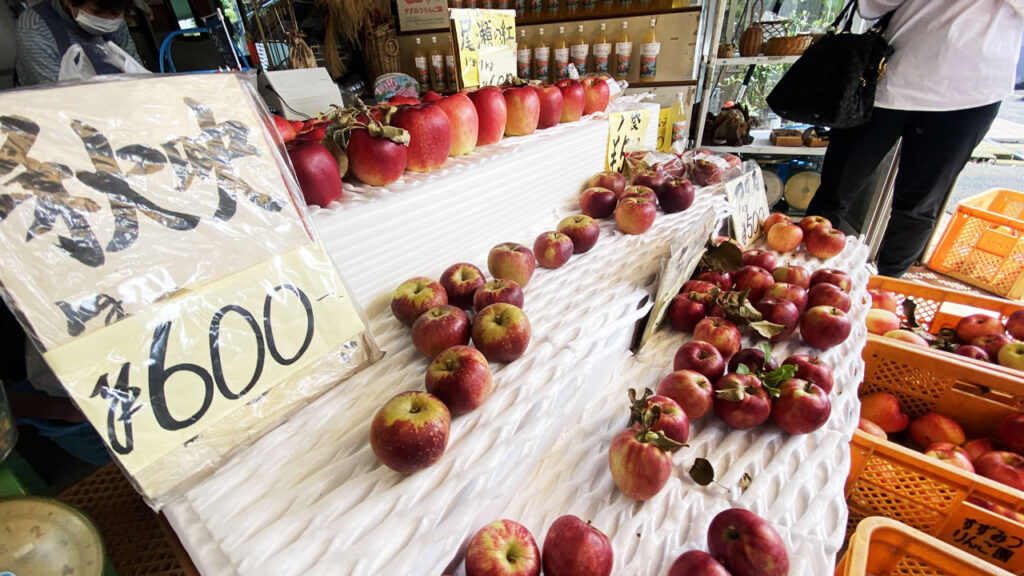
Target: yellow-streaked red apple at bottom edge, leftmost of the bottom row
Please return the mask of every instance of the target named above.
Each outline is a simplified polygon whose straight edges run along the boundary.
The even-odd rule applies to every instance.
[[[466,576],[539,576],[541,552],[534,535],[513,520],[481,528],[466,549]]]

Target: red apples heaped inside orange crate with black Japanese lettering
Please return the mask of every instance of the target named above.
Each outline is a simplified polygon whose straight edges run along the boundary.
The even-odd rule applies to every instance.
[[[938,412],[911,420],[899,398],[879,392],[860,399],[858,427],[885,440],[905,430],[910,445],[926,456],[1024,490],[1024,413],[1004,417],[995,438],[968,441],[956,420]]]

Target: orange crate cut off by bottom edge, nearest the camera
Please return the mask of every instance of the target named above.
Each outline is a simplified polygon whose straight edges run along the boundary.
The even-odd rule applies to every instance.
[[[888,518],[864,519],[836,576],[1009,576],[1010,573]]]

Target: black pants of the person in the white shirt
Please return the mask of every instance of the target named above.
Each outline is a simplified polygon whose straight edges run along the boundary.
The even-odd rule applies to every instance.
[[[902,276],[924,253],[953,181],[998,111],[999,102],[949,112],[876,108],[867,124],[834,129],[808,215],[824,216],[839,227],[902,137],[892,213],[879,251],[879,274]]]

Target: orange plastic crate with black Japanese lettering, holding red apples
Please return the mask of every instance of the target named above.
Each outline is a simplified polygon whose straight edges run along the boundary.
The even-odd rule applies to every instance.
[[[911,418],[946,414],[969,438],[994,437],[1007,414],[1024,410],[1024,378],[872,335],[863,357],[862,395],[892,393]],[[860,430],[850,448],[850,531],[884,516],[1024,575],[1024,492]]]

